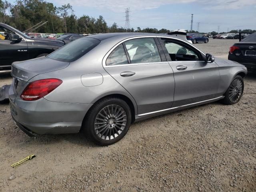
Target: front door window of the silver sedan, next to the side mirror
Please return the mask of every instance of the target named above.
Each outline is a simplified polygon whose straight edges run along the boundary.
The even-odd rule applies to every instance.
[[[198,61],[200,58],[198,53],[176,42],[165,41],[164,45],[172,61]]]

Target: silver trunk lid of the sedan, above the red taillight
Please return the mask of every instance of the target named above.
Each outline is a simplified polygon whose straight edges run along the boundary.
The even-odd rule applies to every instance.
[[[68,62],[61,62],[46,57],[12,63],[12,76],[20,81],[28,81],[34,76],[66,68]]]

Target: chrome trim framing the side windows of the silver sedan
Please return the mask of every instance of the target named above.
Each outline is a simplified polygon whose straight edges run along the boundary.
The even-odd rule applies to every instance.
[[[179,39],[179,38],[175,38],[175,37],[170,37],[170,36],[136,36],[136,37],[130,37],[130,38],[126,38],[120,42],[118,42],[115,46],[113,46],[108,52],[107,54],[104,56],[103,60],[102,60],[102,66],[105,68],[107,67],[114,67],[114,66],[130,66],[130,65],[144,65],[144,64],[156,64],[156,63],[166,63],[166,61],[161,61],[161,62],[150,62],[150,63],[134,63],[134,64],[123,64],[123,65],[106,65],[106,60],[108,58],[108,56],[110,55],[110,53],[120,44],[122,44],[123,42],[126,42],[128,40],[132,40],[132,39],[138,39],[138,38],[168,38],[168,39],[175,39],[175,40],[180,40],[184,43],[186,43],[188,46],[192,46],[193,48],[195,48],[196,50],[198,50],[200,53],[204,54],[202,51],[200,51],[198,48],[196,48],[195,46],[189,44],[188,42],[186,42],[185,40]],[[206,54],[204,54],[205,56]],[[169,62],[177,62],[177,61],[169,61]],[[181,61],[181,62],[204,62],[204,61]]]

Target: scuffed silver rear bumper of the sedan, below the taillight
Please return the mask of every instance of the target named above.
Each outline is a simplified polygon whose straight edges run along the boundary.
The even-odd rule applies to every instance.
[[[14,122],[30,136],[78,133],[86,112],[92,106],[92,104],[50,102],[44,98],[24,101],[10,92],[9,100]]]

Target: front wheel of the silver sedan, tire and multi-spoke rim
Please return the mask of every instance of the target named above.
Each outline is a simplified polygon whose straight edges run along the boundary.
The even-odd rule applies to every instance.
[[[240,101],[244,92],[244,79],[237,75],[232,80],[230,86],[224,94],[222,102],[226,105],[234,105]]]

